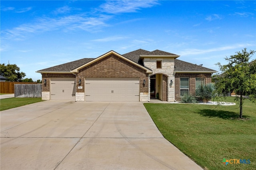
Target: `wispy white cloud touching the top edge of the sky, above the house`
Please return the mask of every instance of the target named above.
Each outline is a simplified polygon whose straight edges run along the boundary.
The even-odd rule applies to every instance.
[[[110,14],[137,12],[141,8],[150,8],[158,5],[155,0],[117,0],[107,1],[100,6],[100,10]]]

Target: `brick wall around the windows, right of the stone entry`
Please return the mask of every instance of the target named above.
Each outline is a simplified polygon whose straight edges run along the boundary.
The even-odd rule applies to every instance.
[[[211,73],[176,73],[175,74],[175,100],[180,101],[180,77],[189,78],[189,93],[195,95],[196,93],[196,78],[205,76],[205,84],[212,82]]]

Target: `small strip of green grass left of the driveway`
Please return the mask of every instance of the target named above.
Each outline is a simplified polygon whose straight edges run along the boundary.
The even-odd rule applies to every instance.
[[[0,111],[12,109],[14,107],[20,107],[42,101],[42,98],[8,98],[0,99]]]

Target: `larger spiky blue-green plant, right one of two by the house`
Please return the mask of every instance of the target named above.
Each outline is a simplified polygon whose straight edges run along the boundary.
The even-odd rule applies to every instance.
[[[200,99],[207,103],[214,97],[215,85],[214,83],[209,83],[207,85],[198,85],[196,89],[196,96],[200,97]]]

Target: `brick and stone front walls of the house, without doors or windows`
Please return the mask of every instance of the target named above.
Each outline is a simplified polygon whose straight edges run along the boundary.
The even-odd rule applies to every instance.
[[[161,61],[161,67],[157,67],[157,62]],[[78,63],[79,64],[79,63]],[[77,65],[78,65],[77,64]],[[82,65],[83,63],[81,63]],[[50,99],[50,79],[51,78],[76,78],[76,101],[84,101],[85,99],[85,81],[86,78],[139,78],[140,79],[140,101],[150,100],[150,76],[158,75],[156,81],[158,83],[159,96],[161,93],[161,100],[174,101],[180,100],[180,77],[189,78],[189,93],[195,95],[196,78],[204,77],[205,84],[211,83],[211,73],[175,73],[174,72],[174,58],[172,57],[154,57],[149,56],[143,59],[143,64],[152,70],[143,69],[138,65],[127,61],[125,58],[118,56],[117,53],[110,53],[104,57],[98,58],[98,61],[80,68],[75,74],[68,73],[42,73],[42,81],[46,79],[46,85],[42,85],[42,98]],[[73,70],[74,71],[74,70]],[[75,71],[75,72],[76,72]],[[161,75],[161,76],[160,76]],[[79,85],[81,80],[81,85]],[[143,80],[146,84],[143,85]],[[173,84],[169,84],[170,82]],[[78,89],[82,86],[82,89]]]

